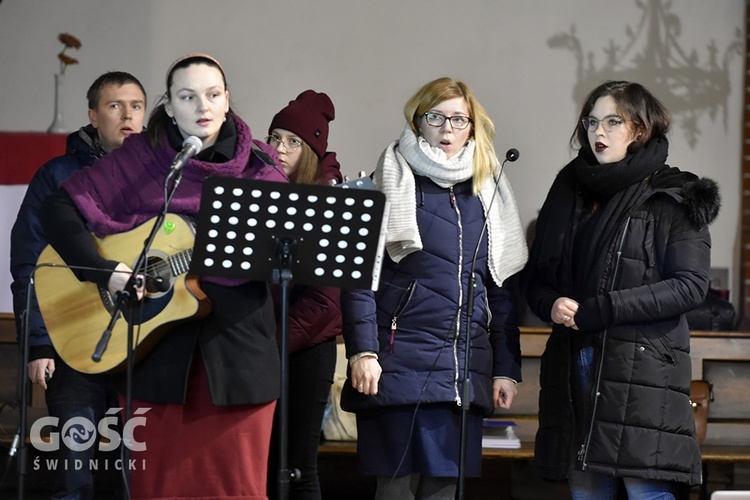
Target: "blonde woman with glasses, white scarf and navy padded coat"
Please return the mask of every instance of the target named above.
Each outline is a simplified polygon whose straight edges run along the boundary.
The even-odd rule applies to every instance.
[[[494,125],[466,84],[427,83],[404,116],[374,175],[391,205],[378,291],[342,291],[342,408],[357,413],[360,470],[377,477],[376,498],[453,499],[462,408],[470,477],[480,473],[483,418],[509,408],[521,380],[510,283],[526,240]]]

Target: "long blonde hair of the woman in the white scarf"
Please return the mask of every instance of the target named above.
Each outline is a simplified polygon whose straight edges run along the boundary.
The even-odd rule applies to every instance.
[[[495,124],[474,93],[464,82],[443,77],[422,86],[404,106],[404,117],[415,134],[419,135],[419,120],[426,112],[443,101],[461,97],[466,101],[472,120],[469,137],[476,142],[474,151],[474,194],[478,194],[484,181],[492,175],[498,164],[495,146]]]

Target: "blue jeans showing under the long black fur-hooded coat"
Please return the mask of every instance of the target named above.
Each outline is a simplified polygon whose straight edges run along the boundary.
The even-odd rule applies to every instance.
[[[583,409],[589,378],[594,371],[594,348],[585,347],[573,358],[573,401],[576,407],[576,419],[584,423],[582,432],[588,427],[587,412]],[[586,420],[583,420],[586,419]],[[669,481],[639,479],[634,477],[612,477],[604,474],[575,470],[575,453],[571,459],[571,472],[568,478],[570,494],[573,500],[615,500],[620,483],[625,484],[630,500],[674,500],[677,489]]]

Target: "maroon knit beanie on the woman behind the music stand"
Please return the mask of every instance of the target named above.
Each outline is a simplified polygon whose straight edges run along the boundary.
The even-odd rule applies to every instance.
[[[328,149],[328,122],[333,120],[334,114],[333,103],[326,94],[305,90],[276,113],[268,133],[275,128],[288,130],[305,141],[318,158],[322,158]]]

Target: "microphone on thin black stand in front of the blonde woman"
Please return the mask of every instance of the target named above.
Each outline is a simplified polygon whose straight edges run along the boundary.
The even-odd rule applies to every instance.
[[[511,155],[511,151],[514,153]],[[505,168],[505,164],[508,161],[515,161],[516,158],[518,158],[518,151],[516,150],[510,150],[505,155],[505,160],[503,161],[502,165],[500,165],[500,173],[497,176],[497,180],[495,181],[495,189],[492,192],[492,198],[490,199],[490,203],[487,206],[487,216],[484,219],[484,224],[482,224],[482,230],[479,232],[479,240],[477,241],[477,246],[474,249],[474,257],[471,260],[471,270],[469,271],[469,297],[467,299],[467,307],[466,310],[466,350],[464,352],[464,383],[463,383],[463,390],[461,391],[461,434],[459,438],[459,452],[458,452],[458,484],[456,486],[456,499],[457,500],[463,500],[464,499],[464,483],[466,481],[466,433],[468,430],[468,424],[469,424],[469,409],[471,407],[471,378],[470,370],[469,370],[469,362],[471,361],[471,323],[474,318],[474,287],[476,285],[476,276],[474,274],[474,268],[477,263],[477,255],[479,254],[479,247],[482,244],[482,238],[484,238],[484,233],[487,230],[487,224],[489,223],[490,217],[492,216],[492,213],[490,212],[490,208],[492,208],[492,204],[495,201],[495,195],[497,194],[498,186],[500,185],[500,180],[503,178],[503,169]],[[489,242],[487,243],[489,245]],[[489,254],[489,248],[488,248],[488,254]],[[485,292],[486,293],[486,292]]]

